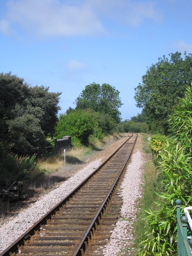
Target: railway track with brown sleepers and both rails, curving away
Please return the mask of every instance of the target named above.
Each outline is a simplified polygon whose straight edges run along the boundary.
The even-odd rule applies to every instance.
[[[136,139],[137,134],[132,133],[106,162],[0,256],[98,255],[119,216],[123,202],[117,185]]]

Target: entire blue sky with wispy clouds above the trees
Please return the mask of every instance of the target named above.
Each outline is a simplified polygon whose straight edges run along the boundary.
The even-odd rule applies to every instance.
[[[108,83],[130,119],[147,66],[192,53],[191,11],[192,0],[1,0],[0,72],[62,92],[61,113],[86,85]]]

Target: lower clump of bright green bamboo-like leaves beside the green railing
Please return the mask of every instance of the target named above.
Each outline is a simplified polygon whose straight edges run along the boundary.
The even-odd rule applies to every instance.
[[[185,148],[168,139],[162,152],[159,152],[156,167],[161,170],[156,194],[161,199],[156,202],[157,210],[145,210],[146,239],[140,243],[140,255],[177,255],[177,211],[175,200],[184,202],[181,210],[192,200],[191,158]],[[162,179],[163,178],[163,179]],[[161,188],[162,187],[162,188]]]

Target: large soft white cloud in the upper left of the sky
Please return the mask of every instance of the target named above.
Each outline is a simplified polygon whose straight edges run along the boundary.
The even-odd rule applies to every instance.
[[[8,0],[5,20],[40,38],[104,33],[102,22],[88,5],[67,5],[60,0]]]

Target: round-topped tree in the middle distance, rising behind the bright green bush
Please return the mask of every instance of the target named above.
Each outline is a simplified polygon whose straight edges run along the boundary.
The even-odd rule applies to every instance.
[[[119,91],[109,84],[92,83],[87,85],[75,100],[76,110],[92,109],[95,112],[108,114],[114,121],[119,123],[121,113],[118,108],[122,106]]]

